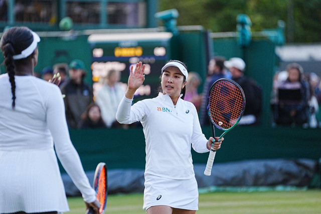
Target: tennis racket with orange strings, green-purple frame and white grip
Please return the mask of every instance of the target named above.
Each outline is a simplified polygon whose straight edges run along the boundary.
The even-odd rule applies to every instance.
[[[207,105],[213,137],[215,137],[215,126],[224,131],[219,139],[234,128],[240,121],[244,110],[245,95],[239,84],[226,78],[218,79],[213,83],[208,94]],[[212,146],[204,171],[205,175],[211,175],[215,154],[216,149]]]

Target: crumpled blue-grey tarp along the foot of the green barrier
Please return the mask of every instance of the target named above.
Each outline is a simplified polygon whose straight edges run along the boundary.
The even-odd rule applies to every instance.
[[[108,167],[108,163],[107,163]],[[317,173],[317,162],[312,159],[258,159],[215,163],[211,176],[204,175],[205,164],[195,164],[199,188],[210,186],[308,186]],[[94,171],[86,172],[92,182]],[[81,195],[68,174],[62,174],[66,194]],[[143,169],[108,170],[108,193],[143,192]]]

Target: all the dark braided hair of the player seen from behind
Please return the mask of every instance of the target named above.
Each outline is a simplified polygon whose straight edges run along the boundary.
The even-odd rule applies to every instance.
[[[0,40],[0,47],[5,56],[4,64],[9,75],[12,92],[12,107],[16,106],[16,82],[15,82],[15,66],[27,64],[29,57],[17,59],[13,58],[14,55],[20,54],[33,42],[33,35],[28,27],[12,27],[9,28]]]

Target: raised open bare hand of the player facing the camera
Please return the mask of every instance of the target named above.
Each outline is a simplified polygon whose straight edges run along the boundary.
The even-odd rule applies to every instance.
[[[141,61],[136,63],[135,70],[133,70],[133,66],[130,67],[128,87],[125,94],[127,98],[131,99],[134,96],[135,91],[142,85],[145,80],[144,70],[145,64],[142,64]]]

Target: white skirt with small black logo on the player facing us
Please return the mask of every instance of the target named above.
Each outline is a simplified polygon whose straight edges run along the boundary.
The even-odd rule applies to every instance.
[[[199,192],[195,177],[171,179],[145,173],[144,185],[144,210],[156,205],[198,210]]]

